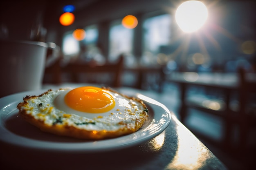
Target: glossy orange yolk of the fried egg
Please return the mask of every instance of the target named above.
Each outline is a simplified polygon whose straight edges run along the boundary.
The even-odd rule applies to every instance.
[[[92,86],[75,88],[64,100],[70,108],[87,113],[104,113],[115,107],[115,99],[110,93]]]

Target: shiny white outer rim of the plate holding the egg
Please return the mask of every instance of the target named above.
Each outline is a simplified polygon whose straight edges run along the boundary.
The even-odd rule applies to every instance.
[[[11,132],[10,130],[8,130],[5,127],[5,125],[2,124],[2,122],[4,121],[3,117],[4,116],[8,117],[8,115],[11,114],[11,112],[9,112],[9,114],[5,113],[5,115],[1,115],[3,108],[13,107],[14,104],[18,104],[19,102],[22,102],[23,97],[25,97],[26,95],[40,95],[41,93],[44,93],[44,92],[45,92],[45,89],[38,90],[38,91],[25,91],[25,92],[15,93],[15,94],[0,98],[0,133],[4,132],[4,131],[8,131],[9,134],[7,134],[7,136],[10,135],[11,137],[14,137],[14,138],[16,137],[19,139],[17,141],[34,142],[35,144],[39,144],[40,147],[35,146],[34,144],[26,145],[26,144],[23,144],[20,142],[13,142],[9,139],[2,139],[2,137],[1,137],[2,135],[0,135],[0,142],[3,142],[4,144],[7,144],[7,145],[16,146],[19,148],[32,149],[32,150],[44,150],[44,151],[54,151],[54,152],[86,152],[86,153],[88,153],[88,152],[103,152],[103,151],[127,148],[130,146],[135,146],[137,144],[141,144],[143,142],[149,141],[150,139],[153,139],[154,137],[156,137],[157,135],[162,133],[171,122],[171,112],[170,112],[170,110],[168,110],[168,108],[166,108],[163,104],[161,104],[160,102],[157,102],[156,100],[154,100],[150,97],[147,97],[145,95],[142,95],[141,93],[135,92],[135,93],[132,93],[133,94],[132,96],[135,96],[135,97],[141,99],[143,102],[145,102],[146,106],[148,106],[149,108],[152,108],[154,120],[159,121],[160,118],[164,119],[164,123],[160,124],[158,129],[155,130],[154,133],[144,135],[144,136],[142,135],[142,137],[137,137],[136,140],[127,139],[127,138],[135,136],[135,135],[139,134],[140,132],[142,132],[143,130],[138,130],[132,134],[125,135],[122,137],[112,138],[112,139],[104,139],[104,140],[92,141],[92,142],[86,141],[86,144],[85,144],[85,142],[82,142],[82,141],[81,141],[81,143],[78,142],[78,143],[74,143],[74,144],[68,143],[68,142],[61,143],[61,142],[51,142],[51,141],[38,141],[35,139],[19,136],[15,133]],[[155,111],[157,111],[156,109],[159,109],[159,110],[162,109],[163,113],[156,114],[155,113]],[[14,115],[14,114],[12,114],[12,115]],[[161,116],[159,116],[159,115],[161,115]],[[151,125],[151,123],[152,122],[150,122],[150,124],[148,126],[146,126],[145,128],[150,128],[149,126]],[[150,129],[149,129],[149,131],[150,131]],[[124,140],[124,142],[120,142],[120,140],[121,141]],[[128,142],[127,142],[127,140],[128,140]],[[117,144],[117,141],[119,141],[118,144]],[[54,145],[59,144],[61,146],[72,146],[72,147],[71,148],[65,148],[65,147],[53,148],[53,147],[49,147],[49,145],[46,145],[46,146],[40,145],[40,144],[53,144],[53,143],[54,143]],[[90,145],[88,145],[89,143],[90,143]],[[106,143],[108,145],[106,145]],[[87,147],[84,147],[84,146],[87,146]]]

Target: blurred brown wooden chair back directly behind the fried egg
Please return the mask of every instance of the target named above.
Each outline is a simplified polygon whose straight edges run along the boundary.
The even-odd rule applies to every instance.
[[[69,63],[63,67],[63,73],[71,74],[71,82],[101,84],[103,86],[120,87],[124,69],[124,58],[116,63],[97,65],[91,63]]]

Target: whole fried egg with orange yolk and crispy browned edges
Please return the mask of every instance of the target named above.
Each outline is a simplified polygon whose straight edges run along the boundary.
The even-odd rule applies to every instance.
[[[84,86],[26,96],[19,115],[42,131],[81,139],[130,134],[144,124],[148,109],[135,97],[110,88]]]

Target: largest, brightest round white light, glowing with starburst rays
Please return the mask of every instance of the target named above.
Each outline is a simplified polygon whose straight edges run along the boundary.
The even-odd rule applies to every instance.
[[[207,7],[200,1],[183,2],[176,11],[175,19],[182,31],[186,33],[200,29],[208,17]]]

